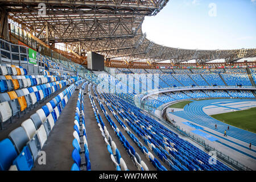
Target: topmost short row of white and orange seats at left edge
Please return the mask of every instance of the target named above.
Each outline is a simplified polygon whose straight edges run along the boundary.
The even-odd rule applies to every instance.
[[[0,64],[0,75],[27,75],[27,69],[11,64]]]

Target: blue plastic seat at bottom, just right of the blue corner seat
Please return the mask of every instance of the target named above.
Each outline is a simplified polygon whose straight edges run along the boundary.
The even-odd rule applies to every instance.
[[[23,148],[18,157],[14,160],[13,164],[18,168],[19,171],[31,170],[31,168],[34,166],[34,160],[27,146]]]

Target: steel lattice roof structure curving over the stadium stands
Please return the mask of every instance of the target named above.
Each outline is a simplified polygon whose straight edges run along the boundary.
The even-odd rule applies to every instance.
[[[232,50],[181,49],[160,46],[142,32],[144,16],[154,16],[168,0],[4,0],[0,5],[9,18],[54,46],[66,43],[79,55],[94,51],[108,59],[122,57],[127,62],[173,63],[195,59],[204,64],[215,59],[233,63],[256,57],[256,48]],[[40,4],[43,3],[43,4]],[[46,11],[43,8],[46,7]],[[45,13],[45,14],[44,14]]]

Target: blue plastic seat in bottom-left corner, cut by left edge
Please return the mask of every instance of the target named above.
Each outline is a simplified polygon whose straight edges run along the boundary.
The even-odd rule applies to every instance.
[[[17,155],[11,140],[9,138],[3,139],[0,142],[0,170],[8,170]]]

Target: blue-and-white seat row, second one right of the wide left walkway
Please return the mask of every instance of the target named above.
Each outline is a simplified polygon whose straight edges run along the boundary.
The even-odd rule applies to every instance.
[[[97,106],[92,98],[92,94],[90,93],[90,87],[92,84],[88,85],[88,89],[89,89],[89,99],[90,99],[90,103],[93,107],[93,112],[96,118],[96,121],[98,123],[98,127],[101,131],[101,135],[102,138],[104,139],[104,142],[106,144],[107,150],[109,152],[110,155],[110,159],[113,162],[115,169],[117,171],[127,171],[127,166],[125,161],[122,159],[121,154],[118,150],[118,148],[116,147],[115,143],[112,140],[112,137],[109,134],[109,131],[106,129],[106,126],[104,124],[104,122],[102,121],[101,115],[98,112]]]

